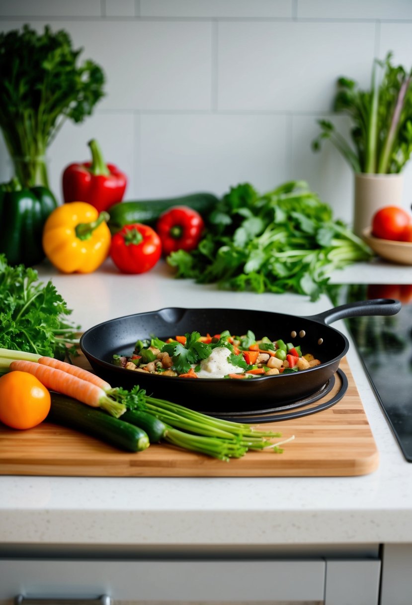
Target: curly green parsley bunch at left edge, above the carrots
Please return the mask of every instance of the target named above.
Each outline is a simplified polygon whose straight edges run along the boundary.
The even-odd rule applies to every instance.
[[[51,281],[23,264],[9,266],[0,254],[0,347],[64,358],[76,355],[76,329],[66,302]]]

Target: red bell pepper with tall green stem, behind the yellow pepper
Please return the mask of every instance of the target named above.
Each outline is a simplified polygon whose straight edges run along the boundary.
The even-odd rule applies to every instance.
[[[92,162],[74,163],[63,172],[65,202],[86,201],[99,212],[123,200],[127,177],[114,164],[106,164],[96,140],[88,142]]]

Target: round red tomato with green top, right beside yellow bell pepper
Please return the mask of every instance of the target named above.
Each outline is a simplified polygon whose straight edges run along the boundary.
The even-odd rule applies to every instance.
[[[158,234],[141,223],[124,225],[112,237],[110,255],[123,273],[145,273],[155,266],[162,253]]]

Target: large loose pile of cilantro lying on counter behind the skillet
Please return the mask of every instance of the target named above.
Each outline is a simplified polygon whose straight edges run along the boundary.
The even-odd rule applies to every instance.
[[[167,258],[176,277],[231,290],[282,293],[316,300],[330,273],[371,251],[303,181],[260,195],[249,183],[231,188],[211,212],[197,249]]]

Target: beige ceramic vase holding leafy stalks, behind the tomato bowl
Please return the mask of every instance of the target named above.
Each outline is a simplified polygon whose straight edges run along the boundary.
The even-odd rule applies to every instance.
[[[384,206],[402,206],[403,174],[355,174],[353,231],[361,237],[376,211]]]

